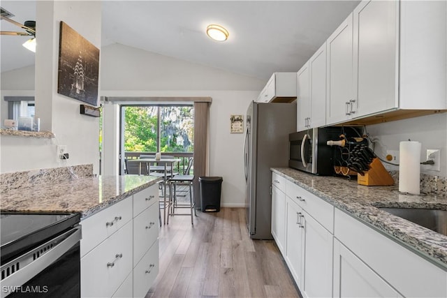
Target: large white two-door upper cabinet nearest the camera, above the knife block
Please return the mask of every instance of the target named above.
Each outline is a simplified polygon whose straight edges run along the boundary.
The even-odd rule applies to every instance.
[[[362,1],[327,40],[326,124],[446,110],[446,6]]]

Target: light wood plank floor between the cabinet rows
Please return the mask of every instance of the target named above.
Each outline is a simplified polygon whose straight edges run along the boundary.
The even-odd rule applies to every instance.
[[[245,209],[175,216],[160,228],[159,275],[146,298],[300,297],[273,240],[249,238]]]

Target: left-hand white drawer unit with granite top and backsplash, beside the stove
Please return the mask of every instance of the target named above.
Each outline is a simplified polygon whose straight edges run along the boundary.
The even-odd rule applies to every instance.
[[[144,297],[159,271],[161,177],[86,169],[3,174],[1,211],[80,213],[81,297]]]

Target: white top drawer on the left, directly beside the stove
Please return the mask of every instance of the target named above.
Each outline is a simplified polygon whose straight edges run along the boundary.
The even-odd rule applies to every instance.
[[[132,219],[132,200],[126,198],[81,221],[81,257]]]

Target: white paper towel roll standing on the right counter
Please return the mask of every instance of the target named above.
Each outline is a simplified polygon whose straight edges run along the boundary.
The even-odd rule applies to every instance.
[[[420,193],[420,142],[400,142],[399,146],[399,191]]]

